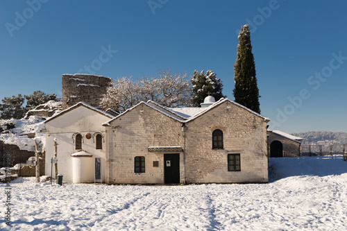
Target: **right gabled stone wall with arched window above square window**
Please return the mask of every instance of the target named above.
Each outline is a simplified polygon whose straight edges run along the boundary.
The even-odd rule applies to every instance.
[[[225,102],[187,123],[187,182],[268,182],[266,122]],[[212,132],[223,131],[223,149],[212,149]],[[228,171],[228,154],[239,153],[241,171]]]

